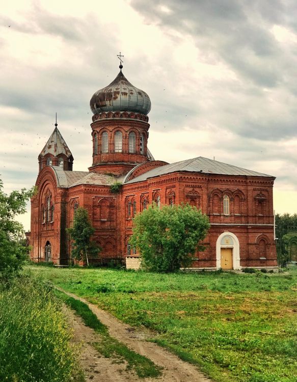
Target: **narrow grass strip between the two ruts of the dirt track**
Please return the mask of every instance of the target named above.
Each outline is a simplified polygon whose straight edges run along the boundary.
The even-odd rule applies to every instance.
[[[88,305],[67,296],[65,293],[56,291],[59,298],[67,304],[71,309],[83,318],[85,324],[94,329],[95,332],[101,335],[100,342],[95,342],[92,345],[99,351],[105,358],[117,357],[119,362],[127,362],[127,370],[133,370],[141,378],[145,377],[158,377],[161,375],[161,368],[155,365],[148,358],[141,356],[141,354],[130,350],[126,345],[111,337],[105,325],[97,318],[97,316],[90,310]]]

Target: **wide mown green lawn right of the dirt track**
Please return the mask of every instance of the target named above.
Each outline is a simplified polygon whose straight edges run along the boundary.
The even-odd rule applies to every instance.
[[[34,271],[84,296],[199,366],[214,381],[297,381],[297,271],[152,274],[111,269]]]

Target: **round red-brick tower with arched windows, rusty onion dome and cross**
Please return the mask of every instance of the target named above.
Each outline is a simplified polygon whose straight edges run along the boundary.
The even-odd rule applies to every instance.
[[[123,57],[120,55],[120,57]],[[121,60],[121,58],[120,58]],[[139,163],[154,160],[147,148],[149,96],[120,72],[91,98],[93,163],[89,171],[128,173]]]

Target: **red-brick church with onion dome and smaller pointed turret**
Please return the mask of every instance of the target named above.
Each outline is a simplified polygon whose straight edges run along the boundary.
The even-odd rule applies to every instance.
[[[94,93],[92,164],[73,171],[73,156],[58,129],[38,156],[38,193],[31,200],[31,259],[72,262],[70,227],[78,207],[88,210],[100,247],[96,264],[121,262],[137,269],[131,248],[133,217],[153,201],[189,203],[211,224],[195,269],[277,267],[273,184],[275,177],[198,156],[175,163],[155,160],[148,149],[150,98],[122,72]],[[90,153],[91,154],[91,153]]]

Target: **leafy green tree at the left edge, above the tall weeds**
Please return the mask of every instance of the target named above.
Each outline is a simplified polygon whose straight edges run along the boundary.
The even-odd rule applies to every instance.
[[[3,192],[0,180],[0,278],[9,279],[22,268],[29,248],[24,245],[24,229],[15,216],[26,211],[26,202],[34,195],[35,188],[22,188],[10,195]]]

